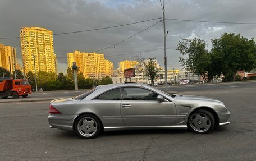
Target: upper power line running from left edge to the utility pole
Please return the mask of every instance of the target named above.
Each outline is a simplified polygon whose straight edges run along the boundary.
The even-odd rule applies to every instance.
[[[132,22],[132,23],[130,23],[130,24],[116,25],[116,26],[110,26],[110,27],[102,27],[102,28],[90,29],[90,30],[72,31],[72,32],[67,32],[67,33],[57,33],[57,34],[52,34],[52,35],[75,34],[75,33],[84,33],[84,32],[88,32],[88,31],[96,31],[96,30],[111,29],[111,28],[115,28],[115,27],[127,26],[127,25],[132,25],[132,24],[139,24],[139,23],[142,23],[142,22],[153,21],[153,20],[158,20],[158,19],[161,19],[161,17],[156,18],[156,19],[150,19],[150,20]],[[34,37],[34,36],[26,36],[26,37]],[[19,39],[19,38],[21,38],[21,36],[16,36],[16,37],[2,37],[2,38],[0,38],[0,39]]]

